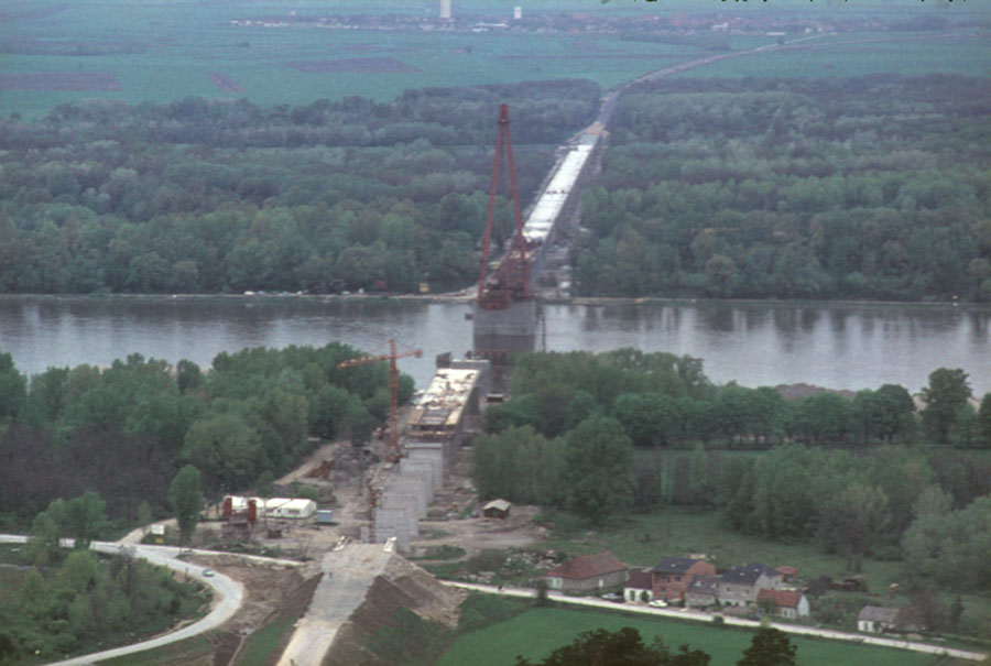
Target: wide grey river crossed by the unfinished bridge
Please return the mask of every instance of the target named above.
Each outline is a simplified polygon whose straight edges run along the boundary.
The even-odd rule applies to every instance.
[[[0,350],[21,372],[139,352],[208,367],[219,351],[341,341],[369,353],[423,349],[400,361],[424,386],[434,357],[471,348],[467,303],[255,297],[0,297]],[[634,347],[699,357],[709,379],[747,386],[806,382],[830,389],[902,384],[962,368],[991,391],[991,308],[950,305],[697,302],[543,305],[536,348]]]

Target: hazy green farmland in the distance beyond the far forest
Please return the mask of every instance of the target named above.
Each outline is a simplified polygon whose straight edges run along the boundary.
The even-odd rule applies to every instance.
[[[460,11],[466,14],[499,11],[508,15],[514,3],[468,0]],[[714,4],[718,3],[686,0],[678,9],[712,11]],[[856,11],[861,14],[878,12],[885,7],[883,3],[864,4],[867,9],[858,6]],[[285,19],[290,11],[296,17],[326,17],[367,13],[372,11],[370,7],[353,0],[329,6],[316,0],[291,4],[271,0],[238,3],[109,0],[96,4],[34,0],[29,6],[0,0],[0,45],[3,46],[0,51],[0,114],[19,112],[24,117],[37,117],[58,103],[79,99],[167,102],[187,96],[204,96],[248,98],[270,106],[304,105],[320,98],[340,99],[350,95],[388,100],[405,89],[425,86],[553,78],[588,78],[610,87],[653,69],[711,53],[687,45],[623,41],[612,34],[345,31],[260,24],[265,18]],[[375,3],[374,8],[373,11],[380,14],[422,18],[433,17],[436,9],[433,2],[382,2]],[[603,18],[671,11],[645,3],[560,0],[526,8],[526,11],[560,12],[565,8]],[[828,4],[810,8],[808,3],[785,1],[777,9],[791,11],[796,18],[828,15],[830,12]],[[845,11],[852,15],[852,10]],[[912,12],[918,11],[928,10],[912,8]],[[987,13],[977,7],[971,10],[965,6],[956,8],[951,15],[962,18],[968,12],[977,18]],[[236,20],[254,23],[235,25],[231,21]],[[823,40],[824,45],[813,52],[734,58],[693,69],[686,75],[794,77],[799,72],[803,76],[838,76],[883,70],[905,74],[989,70],[989,50],[979,37],[933,42],[924,33],[916,36],[927,41],[875,46],[873,42],[878,35],[848,33]],[[867,44],[826,46],[827,41]],[[730,46],[734,50],[773,42],[773,37],[730,37]],[[369,58],[375,58],[370,65],[372,70],[355,70],[349,65],[333,66],[336,70],[291,66],[293,63]],[[35,77],[33,86],[24,85],[24,75]],[[63,83],[54,85],[51,79],[36,78],[43,75],[54,75]],[[102,87],[111,89],[79,84],[78,75],[102,76],[110,81]],[[228,85],[218,84],[218,78]],[[64,88],[65,81],[75,81],[80,89],[54,89]],[[24,89],[32,87],[36,89]]]

